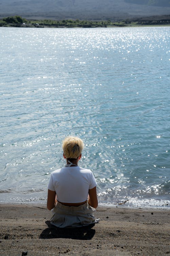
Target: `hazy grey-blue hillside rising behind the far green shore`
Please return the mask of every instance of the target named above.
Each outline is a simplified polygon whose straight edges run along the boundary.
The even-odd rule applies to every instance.
[[[80,19],[118,21],[133,17],[169,15],[169,0],[1,0],[0,18]]]

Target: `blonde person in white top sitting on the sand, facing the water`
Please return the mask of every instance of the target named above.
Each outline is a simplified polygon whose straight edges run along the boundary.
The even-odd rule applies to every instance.
[[[67,164],[50,175],[47,208],[54,212],[50,222],[56,227],[81,227],[99,222],[94,217],[98,207],[97,182],[91,170],[78,166],[83,148],[80,138],[65,138],[63,157]]]

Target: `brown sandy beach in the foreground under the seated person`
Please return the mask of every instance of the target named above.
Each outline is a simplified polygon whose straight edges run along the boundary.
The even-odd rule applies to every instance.
[[[44,204],[0,205],[0,255],[170,255],[170,210],[99,206],[94,226],[51,226]]]

